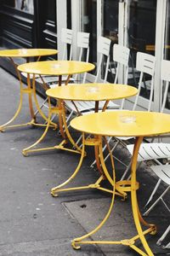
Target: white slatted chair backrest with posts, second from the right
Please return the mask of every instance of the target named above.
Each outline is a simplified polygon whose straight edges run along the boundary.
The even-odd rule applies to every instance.
[[[142,86],[142,81],[144,78],[144,73],[147,73],[151,76],[151,84],[150,84],[150,99],[149,99],[149,105],[148,105],[148,111],[150,111],[152,98],[153,98],[153,91],[154,91],[154,73],[155,73],[155,67],[156,67],[156,57],[153,55],[145,54],[143,52],[138,52],[136,56],[136,69],[140,72],[139,77],[139,87],[138,87],[138,94],[136,96],[133,110],[136,108],[138,100],[139,100],[139,94]]]

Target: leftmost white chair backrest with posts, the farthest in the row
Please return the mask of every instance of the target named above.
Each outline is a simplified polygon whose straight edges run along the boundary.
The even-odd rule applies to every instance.
[[[65,56],[67,54],[67,44],[70,45],[70,55],[67,58],[69,61],[72,59],[72,30],[68,28],[61,29],[61,42],[64,43],[63,56],[62,60],[65,60]]]

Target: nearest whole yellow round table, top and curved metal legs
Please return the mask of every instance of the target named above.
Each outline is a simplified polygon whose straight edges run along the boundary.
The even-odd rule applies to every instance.
[[[74,248],[79,248],[80,244],[121,244],[127,247],[133,248],[136,253],[140,255],[148,255],[153,256],[146,239],[145,235],[156,234],[156,226],[154,224],[148,224],[142,218],[141,213],[139,212],[138,200],[137,200],[137,189],[139,189],[139,183],[136,181],[136,166],[137,166],[137,158],[139,153],[140,143],[143,141],[145,136],[156,136],[161,135],[163,133],[170,132],[170,115],[165,113],[150,113],[150,112],[137,112],[137,111],[114,111],[114,112],[105,112],[105,113],[92,113],[85,116],[80,116],[71,120],[71,127],[76,129],[77,131],[82,131],[82,158],[84,154],[85,145],[88,142],[85,140],[84,133],[94,134],[96,137],[96,143],[99,147],[99,158],[101,161],[101,166],[103,168],[103,172],[105,177],[111,183],[112,186],[112,200],[111,207],[107,212],[105,218],[102,222],[87,235],[82,237],[78,237],[72,241],[72,246]],[[115,168],[113,163],[112,154],[111,162],[113,169],[113,177],[110,176],[107,168],[105,166],[104,155],[102,151],[102,137],[105,136],[118,136],[118,137],[136,137],[134,150],[133,150],[133,160],[132,160],[132,171],[131,171],[131,180],[130,181],[119,181],[116,182],[115,177]],[[109,147],[108,147],[109,148]],[[81,159],[82,160],[82,159]],[[80,166],[80,163],[79,163]],[[89,185],[87,188],[96,188],[102,189],[100,186],[99,180],[97,183]],[[82,187],[85,188],[85,187]],[[77,188],[72,188],[77,189]],[[80,189],[80,188],[78,188]],[[108,191],[109,192],[109,191]],[[133,236],[132,238],[125,238],[122,241],[87,241],[85,240],[88,236],[92,236],[96,231],[98,231],[107,218],[109,218],[111,214],[111,209],[114,204],[114,198],[116,194],[127,194],[127,192],[131,193],[131,203],[133,209],[133,221],[136,226],[138,234]],[[141,227],[146,226],[146,229],[143,230]],[[143,244],[144,250],[140,249],[135,245],[135,242],[140,240]]]

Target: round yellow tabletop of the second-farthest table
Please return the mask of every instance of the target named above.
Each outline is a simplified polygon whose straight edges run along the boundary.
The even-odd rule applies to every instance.
[[[93,70],[94,67],[94,64],[83,61],[38,61],[22,64],[18,69],[25,73],[59,76],[86,73]]]

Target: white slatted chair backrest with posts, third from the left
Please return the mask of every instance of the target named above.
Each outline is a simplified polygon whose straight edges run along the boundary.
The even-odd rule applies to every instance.
[[[96,83],[99,79],[104,56],[106,57],[105,76],[104,76],[104,83],[105,83],[107,79],[109,62],[110,62],[111,39],[99,37],[97,43],[98,43],[97,52],[99,54],[99,65],[98,65],[97,74],[96,74],[94,83]]]

